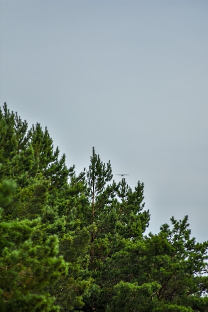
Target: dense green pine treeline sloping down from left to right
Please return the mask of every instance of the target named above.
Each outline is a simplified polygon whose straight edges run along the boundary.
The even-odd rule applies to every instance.
[[[74,169],[4,103],[0,311],[208,312],[208,242],[188,216],[147,236],[143,183],[115,183],[94,148],[88,170]]]

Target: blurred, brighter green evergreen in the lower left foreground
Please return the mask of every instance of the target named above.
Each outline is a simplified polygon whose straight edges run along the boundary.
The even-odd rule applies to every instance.
[[[12,182],[0,185],[0,206],[8,203]],[[0,311],[59,311],[53,294],[45,291],[67,274],[67,264],[58,256],[58,240],[49,236],[37,245],[32,237],[40,219],[4,221],[0,208]]]

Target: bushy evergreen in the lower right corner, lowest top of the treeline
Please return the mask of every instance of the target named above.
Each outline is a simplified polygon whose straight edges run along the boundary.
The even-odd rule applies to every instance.
[[[208,242],[190,237],[187,220],[172,218],[172,229],[164,224],[123,250],[129,280],[114,287],[107,311],[208,311]]]

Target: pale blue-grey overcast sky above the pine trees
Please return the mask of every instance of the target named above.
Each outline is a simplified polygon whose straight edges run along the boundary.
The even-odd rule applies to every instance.
[[[0,0],[0,106],[208,240],[208,1]]]

